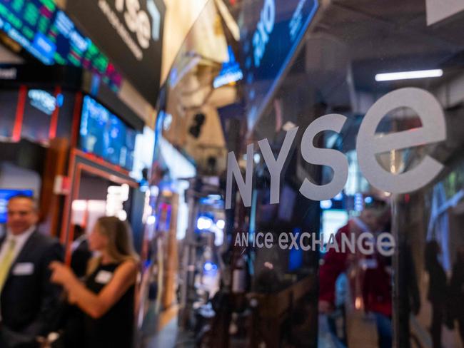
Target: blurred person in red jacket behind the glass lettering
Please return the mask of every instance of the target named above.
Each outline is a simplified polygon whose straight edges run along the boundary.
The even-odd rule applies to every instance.
[[[365,205],[360,216],[348,221],[335,235],[338,245],[341,245],[342,235],[350,239],[351,234],[357,237],[363,232],[376,235],[381,227],[381,218],[385,215],[386,203],[373,198],[369,205]],[[385,231],[382,231],[385,232]],[[355,279],[349,277],[351,294],[355,309],[375,314],[379,347],[391,347],[391,276],[387,257],[374,252],[373,255],[361,255],[359,250],[351,253],[337,252],[333,248],[323,257],[323,264],[319,269],[319,312],[328,314],[335,309],[336,282],[338,277],[348,269],[355,270]]]

